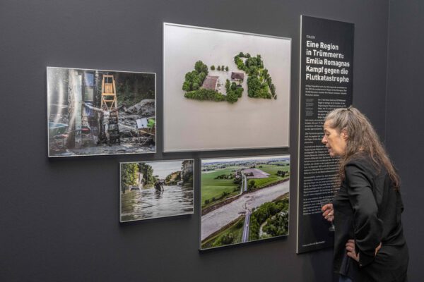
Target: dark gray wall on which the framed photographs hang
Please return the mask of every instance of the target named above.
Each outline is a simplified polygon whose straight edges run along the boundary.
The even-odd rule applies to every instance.
[[[385,135],[386,0],[0,1],[0,281],[331,281],[331,250],[295,255],[301,14],[355,23],[354,104]],[[293,38],[288,238],[199,253],[198,212],[118,216],[119,161],[284,149],[47,159],[46,66],[158,73],[162,122],[163,22]]]

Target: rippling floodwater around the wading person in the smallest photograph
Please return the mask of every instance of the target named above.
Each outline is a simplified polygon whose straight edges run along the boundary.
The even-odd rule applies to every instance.
[[[121,221],[193,213],[193,188],[163,186],[163,192],[141,188],[121,195]]]

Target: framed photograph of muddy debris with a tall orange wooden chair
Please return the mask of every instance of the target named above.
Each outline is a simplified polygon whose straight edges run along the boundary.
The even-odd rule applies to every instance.
[[[47,68],[49,157],[156,151],[155,73]]]

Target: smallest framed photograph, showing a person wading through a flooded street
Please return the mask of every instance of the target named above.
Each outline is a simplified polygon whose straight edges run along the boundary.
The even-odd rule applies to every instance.
[[[194,160],[120,164],[121,222],[193,214]]]

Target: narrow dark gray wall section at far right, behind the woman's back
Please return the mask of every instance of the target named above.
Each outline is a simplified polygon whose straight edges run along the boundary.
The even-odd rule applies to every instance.
[[[409,281],[423,280],[424,2],[390,1],[387,150],[401,175]]]

